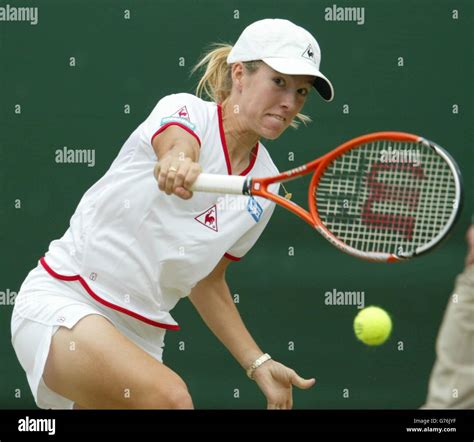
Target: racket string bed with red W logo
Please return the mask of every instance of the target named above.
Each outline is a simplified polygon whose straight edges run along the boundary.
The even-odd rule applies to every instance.
[[[368,253],[410,254],[443,230],[456,185],[446,161],[414,142],[378,140],[342,154],[315,189],[322,223]]]

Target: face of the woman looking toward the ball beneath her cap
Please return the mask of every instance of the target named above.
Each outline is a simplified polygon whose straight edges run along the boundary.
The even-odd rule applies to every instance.
[[[311,75],[286,75],[261,63],[256,72],[242,66],[237,80],[239,114],[245,126],[260,137],[278,138],[301,111],[312,89]]]

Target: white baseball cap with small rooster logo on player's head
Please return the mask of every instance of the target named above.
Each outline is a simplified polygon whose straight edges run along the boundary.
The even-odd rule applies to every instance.
[[[289,20],[267,18],[247,26],[227,57],[227,63],[262,60],[288,75],[314,75],[313,86],[326,101],[334,98],[331,82],[320,72],[321,50],[316,39]]]

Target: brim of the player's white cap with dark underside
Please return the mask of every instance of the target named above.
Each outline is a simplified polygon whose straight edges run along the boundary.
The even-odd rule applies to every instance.
[[[305,60],[295,60],[293,58],[264,58],[262,59],[268,66],[277,72],[287,75],[313,75],[316,77],[313,82],[314,88],[319,95],[326,100],[332,101],[334,98],[334,88],[331,82],[312,63]]]

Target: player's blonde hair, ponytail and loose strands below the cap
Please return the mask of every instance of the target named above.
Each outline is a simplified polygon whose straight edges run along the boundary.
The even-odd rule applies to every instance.
[[[202,97],[205,94],[216,103],[223,103],[229,98],[232,91],[232,76],[231,65],[227,64],[227,56],[231,49],[232,46],[228,43],[214,43],[193,67],[191,74],[200,69],[205,69],[196,87],[196,95],[198,97]],[[247,61],[243,64],[247,72],[253,74],[262,63],[263,61],[257,60]],[[311,121],[311,117],[308,115],[298,113],[290,126],[296,129],[300,122],[306,126]]]

